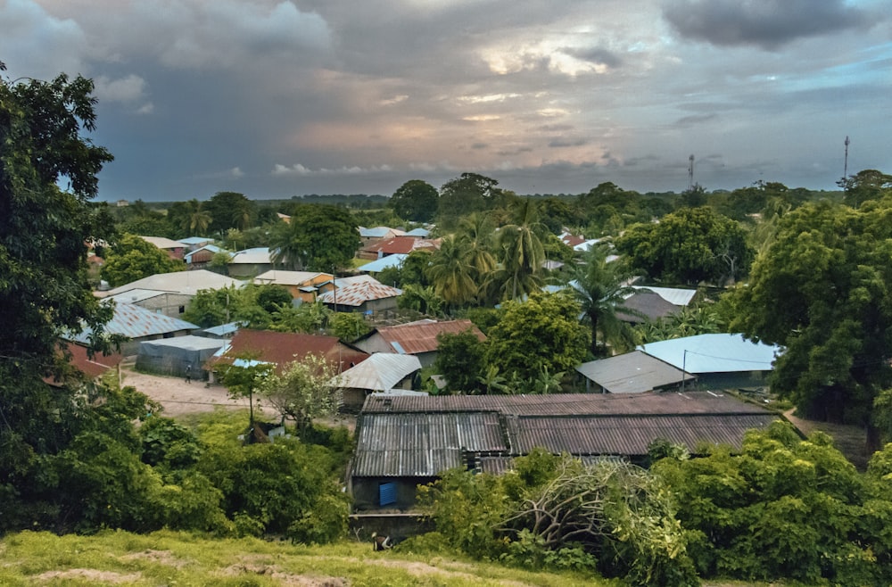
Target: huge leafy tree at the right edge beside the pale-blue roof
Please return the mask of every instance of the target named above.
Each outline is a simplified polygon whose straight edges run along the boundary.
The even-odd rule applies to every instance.
[[[772,390],[806,417],[869,424],[874,395],[892,386],[890,219],[889,200],[805,204],[731,294],[731,329],[784,347]]]

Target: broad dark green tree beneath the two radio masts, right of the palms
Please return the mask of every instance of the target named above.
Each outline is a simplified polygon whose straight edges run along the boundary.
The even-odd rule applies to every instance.
[[[633,269],[665,283],[724,285],[746,275],[753,258],[743,228],[706,207],[682,208],[657,224],[629,227],[616,249]]]

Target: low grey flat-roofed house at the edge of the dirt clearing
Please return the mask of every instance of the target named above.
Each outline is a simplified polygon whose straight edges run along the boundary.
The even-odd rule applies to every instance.
[[[208,377],[203,369],[205,362],[226,342],[203,336],[178,336],[139,343],[136,368],[159,375],[185,377],[196,380]]]

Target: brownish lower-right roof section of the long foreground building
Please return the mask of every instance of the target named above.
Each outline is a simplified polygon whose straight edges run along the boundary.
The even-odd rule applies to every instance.
[[[528,453],[536,447],[558,454],[608,454],[640,457],[657,439],[693,451],[699,442],[740,449],[751,428],[765,428],[779,417],[770,412],[748,415],[535,417],[508,420],[511,447]]]

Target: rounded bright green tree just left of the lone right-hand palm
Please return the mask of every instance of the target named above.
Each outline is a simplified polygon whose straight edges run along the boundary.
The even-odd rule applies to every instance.
[[[487,364],[528,381],[546,369],[569,371],[585,359],[589,333],[579,323],[579,304],[570,296],[533,293],[524,302],[506,302],[504,309],[486,341]]]

